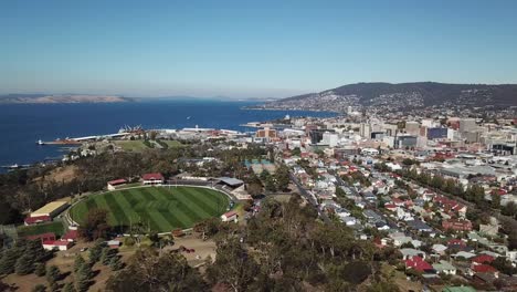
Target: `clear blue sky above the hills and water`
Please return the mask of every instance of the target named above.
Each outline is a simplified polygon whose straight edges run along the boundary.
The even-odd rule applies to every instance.
[[[264,97],[370,81],[517,83],[510,0],[6,0],[0,38],[1,93]]]

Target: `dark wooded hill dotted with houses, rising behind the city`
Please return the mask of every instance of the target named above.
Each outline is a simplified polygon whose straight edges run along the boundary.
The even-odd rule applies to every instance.
[[[486,105],[517,106],[517,84],[356,83],[265,103],[260,107],[341,112],[348,106],[401,109]]]

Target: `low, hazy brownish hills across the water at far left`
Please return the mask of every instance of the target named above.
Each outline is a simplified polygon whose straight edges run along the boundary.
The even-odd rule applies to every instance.
[[[86,94],[6,94],[0,95],[0,104],[59,104],[59,103],[126,103],[133,98],[116,95]]]

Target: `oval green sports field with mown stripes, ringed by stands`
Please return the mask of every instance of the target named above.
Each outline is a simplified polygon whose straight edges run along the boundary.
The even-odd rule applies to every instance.
[[[152,231],[190,228],[196,222],[226,211],[229,198],[219,191],[198,187],[143,187],[91,196],[72,207],[70,215],[81,225],[87,210],[108,210],[108,221],[120,231],[141,222]]]

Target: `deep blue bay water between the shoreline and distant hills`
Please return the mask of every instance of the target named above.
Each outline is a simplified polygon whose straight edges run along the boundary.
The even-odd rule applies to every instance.
[[[144,128],[183,128],[198,125],[246,131],[239,125],[281,118],[286,114],[293,117],[335,115],[324,112],[241,109],[242,106],[252,104],[218,101],[149,101],[114,104],[0,105],[0,166],[32,164],[63,155],[57,146],[36,145],[38,139],[54,140],[113,134],[124,125],[141,125]]]

